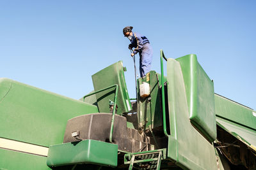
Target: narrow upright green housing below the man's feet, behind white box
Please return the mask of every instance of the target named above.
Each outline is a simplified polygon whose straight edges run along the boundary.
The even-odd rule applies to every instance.
[[[138,120],[141,127],[144,126],[144,129],[153,129],[163,125],[161,103],[159,102],[161,101],[160,81],[161,74],[156,73],[156,71],[150,71],[147,76],[138,79],[138,113],[140,113]],[[164,81],[166,81],[166,77],[164,77]],[[140,97],[140,85],[143,82],[150,85],[150,96],[145,98]]]

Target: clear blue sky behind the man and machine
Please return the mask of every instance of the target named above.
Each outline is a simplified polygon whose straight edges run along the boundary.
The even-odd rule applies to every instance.
[[[256,1],[0,1],[0,77],[79,99],[91,75],[123,60],[130,97],[134,68],[123,27],[159,50],[195,53],[214,90],[256,109]],[[137,61],[138,63],[138,56]]]

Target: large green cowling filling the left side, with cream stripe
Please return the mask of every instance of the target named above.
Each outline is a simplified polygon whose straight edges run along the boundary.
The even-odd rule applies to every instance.
[[[0,139],[26,143],[45,150],[63,142],[67,120],[79,115],[98,113],[97,106],[47,92],[8,78],[0,78]],[[8,146],[13,147],[10,143]],[[0,144],[0,169],[47,170],[47,157],[13,150]],[[21,145],[22,146],[22,145]],[[3,147],[3,148],[2,148]],[[26,148],[31,151],[31,148]],[[38,153],[38,155],[36,155]]]

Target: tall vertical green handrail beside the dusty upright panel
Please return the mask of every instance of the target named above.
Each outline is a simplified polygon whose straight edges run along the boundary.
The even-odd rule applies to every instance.
[[[164,57],[163,50],[160,50],[160,60],[161,60],[161,87],[162,87],[162,110],[163,110],[163,127],[165,136],[169,136],[166,130],[166,112],[165,112],[165,97],[164,97],[164,69],[163,69],[163,58],[167,61],[166,57]]]

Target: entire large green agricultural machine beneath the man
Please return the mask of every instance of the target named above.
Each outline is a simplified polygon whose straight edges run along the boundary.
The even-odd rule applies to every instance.
[[[196,55],[160,59],[135,99],[122,61],[79,100],[1,78],[0,169],[256,169],[256,111],[214,94]]]

